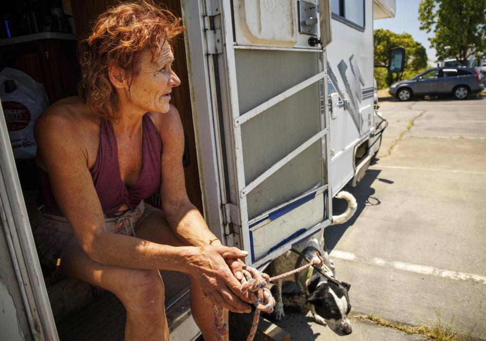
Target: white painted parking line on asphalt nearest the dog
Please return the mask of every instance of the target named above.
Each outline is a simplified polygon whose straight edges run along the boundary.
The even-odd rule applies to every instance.
[[[363,263],[373,264],[380,267],[389,267],[403,271],[415,272],[418,274],[440,276],[443,278],[450,278],[454,280],[473,280],[486,284],[486,276],[480,276],[475,274],[468,274],[458,271],[437,269],[433,267],[426,267],[417,264],[404,263],[401,261],[388,261],[383,258],[361,258],[357,257],[354,253],[344,252],[339,250],[332,250],[329,254],[330,258],[340,258],[346,260],[357,260]]]

